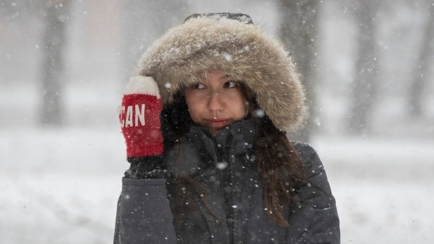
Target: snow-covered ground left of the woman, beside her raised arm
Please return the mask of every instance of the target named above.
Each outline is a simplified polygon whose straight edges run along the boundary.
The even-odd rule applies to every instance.
[[[116,130],[0,131],[0,243],[109,243],[123,147]]]

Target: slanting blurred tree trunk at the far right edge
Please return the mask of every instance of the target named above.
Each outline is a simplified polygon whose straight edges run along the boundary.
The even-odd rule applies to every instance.
[[[434,1],[426,1],[428,4],[428,19],[423,31],[419,57],[414,69],[414,78],[409,89],[409,112],[415,117],[422,114],[423,91],[428,85],[431,57],[434,55]]]

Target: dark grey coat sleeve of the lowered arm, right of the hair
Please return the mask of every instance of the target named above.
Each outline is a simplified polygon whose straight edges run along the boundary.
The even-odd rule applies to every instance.
[[[300,200],[290,207],[288,243],[340,243],[335,198],[315,150],[307,144],[295,148],[304,160],[307,182],[295,189]]]

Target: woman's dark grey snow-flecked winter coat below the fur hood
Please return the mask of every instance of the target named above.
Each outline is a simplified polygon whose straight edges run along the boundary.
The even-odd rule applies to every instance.
[[[235,122],[215,138],[207,128],[193,125],[181,143],[186,152],[181,163],[200,170],[195,180],[207,189],[201,194],[207,195],[217,218],[196,199],[200,217],[187,216],[175,231],[171,204],[176,199],[167,196],[171,182],[123,178],[115,243],[339,243],[335,199],[323,164],[309,145],[293,143],[309,182],[295,187],[300,202],[290,205],[285,228],[267,217],[251,120]],[[165,162],[176,157],[165,152]],[[226,221],[228,216],[232,220]]]

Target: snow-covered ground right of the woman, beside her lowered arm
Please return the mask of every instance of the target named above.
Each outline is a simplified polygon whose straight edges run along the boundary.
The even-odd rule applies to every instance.
[[[434,141],[317,138],[342,243],[434,243]]]

